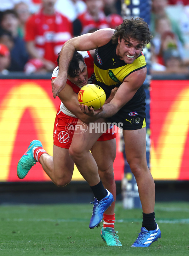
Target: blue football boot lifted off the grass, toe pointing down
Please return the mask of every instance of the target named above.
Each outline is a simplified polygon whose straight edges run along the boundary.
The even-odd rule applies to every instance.
[[[114,201],[112,193],[110,193],[107,189],[106,191],[107,191],[107,196],[105,196],[103,199],[98,201],[95,198],[94,202],[89,203],[89,204],[94,204],[92,217],[89,223],[90,229],[93,229],[94,227],[99,225],[99,223],[103,218],[103,213],[108,209],[109,206],[111,206],[112,202]]]

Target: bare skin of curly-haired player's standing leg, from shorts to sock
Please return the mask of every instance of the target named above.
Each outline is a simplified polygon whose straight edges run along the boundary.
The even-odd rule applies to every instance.
[[[155,184],[146,162],[146,129],[123,130],[126,158],[139,190],[144,213],[154,211]]]

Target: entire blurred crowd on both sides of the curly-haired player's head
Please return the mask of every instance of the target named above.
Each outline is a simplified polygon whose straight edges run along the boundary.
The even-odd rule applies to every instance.
[[[151,73],[188,74],[189,1],[152,0]],[[52,72],[72,37],[123,22],[121,0],[6,0],[0,5],[0,74]]]

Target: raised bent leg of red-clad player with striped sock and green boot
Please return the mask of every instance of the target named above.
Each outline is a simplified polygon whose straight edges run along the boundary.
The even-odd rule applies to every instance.
[[[17,165],[17,175],[20,179],[26,177],[32,166],[39,162],[43,170],[57,186],[67,185],[73,174],[74,162],[70,158],[68,149],[53,147],[54,157],[50,156],[39,140],[32,140]]]

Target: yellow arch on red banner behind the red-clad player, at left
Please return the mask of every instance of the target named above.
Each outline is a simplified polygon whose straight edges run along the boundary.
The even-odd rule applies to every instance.
[[[20,86],[15,86],[7,93],[0,105],[0,180],[6,181],[8,178],[14,140],[26,108],[31,110],[35,128],[38,132],[40,131],[40,140],[45,141],[43,145],[45,150],[52,155],[52,134],[57,110],[51,98],[42,87],[34,82],[25,82]],[[35,122],[35,120],[38,121]],[[83,179],[78,170],[74,176],[77,180]],[[49,179],[45,172],[44,177]]]

